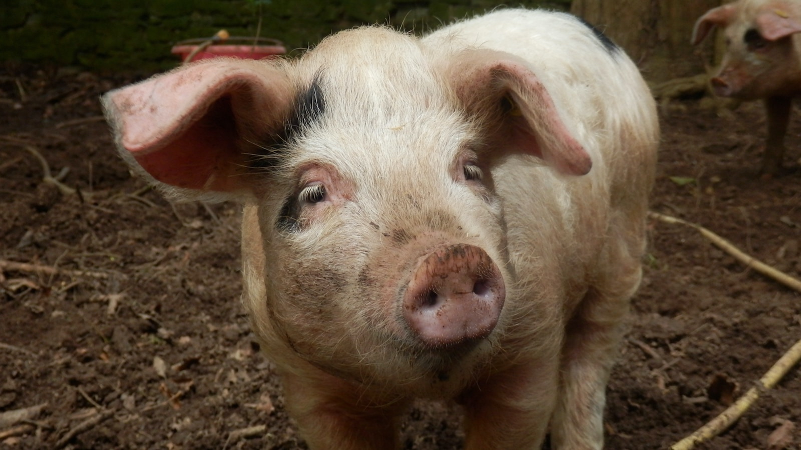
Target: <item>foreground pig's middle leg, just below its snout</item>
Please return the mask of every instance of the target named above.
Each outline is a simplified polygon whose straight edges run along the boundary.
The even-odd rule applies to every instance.
[[[554,350],[465,392],[465,450],[542,448],[557,400],[558,360]]]

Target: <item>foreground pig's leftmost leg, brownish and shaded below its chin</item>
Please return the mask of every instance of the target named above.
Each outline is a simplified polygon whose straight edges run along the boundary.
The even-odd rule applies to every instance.
[[[311,380],[284,374],[286,408],[312,450],[392,450],[405,402],[364,406],[355,385],[323,373]]]

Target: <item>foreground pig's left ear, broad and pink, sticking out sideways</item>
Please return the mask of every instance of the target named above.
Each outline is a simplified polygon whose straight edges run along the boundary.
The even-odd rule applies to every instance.
[[[279,127],[291,104],[283,70],[241,59],[198,62],[103,95],[123,158],[190,198],[247,191],[248,177],[238,176],[244,148]]]

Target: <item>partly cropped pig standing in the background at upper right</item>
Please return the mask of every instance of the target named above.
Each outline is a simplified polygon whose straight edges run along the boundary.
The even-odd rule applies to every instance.
[[[767,141],[760,173],[782,169],[784,135],[791,99],[801,94],[801,2],[739,0],[706,11],[693,29],[698,45],[715,26],[726,36],[726,53],[710,79],[714,94],[761,99],[767,113]]]

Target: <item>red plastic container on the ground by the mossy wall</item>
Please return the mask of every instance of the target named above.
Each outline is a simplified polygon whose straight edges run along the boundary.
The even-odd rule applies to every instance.
[[[207,39],[187,39],[186,41],[178,42],[172,47],[172,53],[179,55],[181,60],[186,60],[187,56],[192,53],[200,44],[206,42]],[[234,41],[236,43],[233,43]],[[279,54],[287,53],[284,43],[276,39],[270,38],[228,38],[226,43],[211,44],[203,50],[200,50],[192,61],[205,58],[216,58],[218,56],[233,56],[235,58],[244,59],[261,59],[270,58]],[[256,45],[253,45],[256,42]]]

